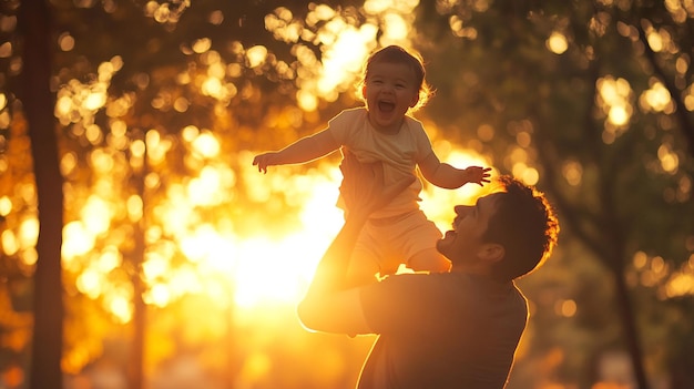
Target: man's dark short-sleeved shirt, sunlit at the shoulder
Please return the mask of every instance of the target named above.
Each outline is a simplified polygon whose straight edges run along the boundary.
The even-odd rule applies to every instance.
[[[358,389],[501,389],[528,319],[513,283],[460,273],[388,277],[361,306],[379,337]]]

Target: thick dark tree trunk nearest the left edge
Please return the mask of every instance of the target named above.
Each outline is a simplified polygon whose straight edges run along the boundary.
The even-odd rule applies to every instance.
[[[40,225],[33,276],[34,325],[29,388],[59,389],[62,388],[63,193],[53,117],[54,96],[49,86],[51,34],[47,2],[22,1],[18,25],[24,37],[21,101],[31,140]]]

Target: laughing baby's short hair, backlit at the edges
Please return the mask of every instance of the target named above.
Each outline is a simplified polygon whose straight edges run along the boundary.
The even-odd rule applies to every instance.
[[[427,101],[433,94],[433,91],[425,79],[426,71],[423,60],[419,54],[411,53],[406,49],[395,44],[377,50],[372,52],[371,55],[369,55],[364,65],[361,80],[357,85],[358,90],[361,90],[361,86],[364,86],[364,84],[366,83],[366,79],[369,76],[369,70],[371,68],[371,64],[378,62],[404,63],[408,65],[415,72],[415,82],[419,91],[419,101],[417,102],[417,105],[410,109],[410,111],[417,111],[420,108],[425,106],[425,104],[427,104]]]

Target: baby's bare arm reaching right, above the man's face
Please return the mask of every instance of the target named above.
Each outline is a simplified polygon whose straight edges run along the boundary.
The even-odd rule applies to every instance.
[[[489,171],[491,167],[469,166],[457,168],[439,161],[435,153],[419,163],[421,175],[431,184],[446,190],[455,190],[467,183],[474,183],[480,186],[489,182]]]

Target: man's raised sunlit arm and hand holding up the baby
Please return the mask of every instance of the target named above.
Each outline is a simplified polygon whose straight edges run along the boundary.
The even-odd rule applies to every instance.
[[[390,202],[412,180],[384,187],[382,164],[359,164],[349,154],[345,156],[340,168],[345,177],[343,185],[358,183],[359,196],[353,199],[354,206],[345,225],[320,259],[306,296],[299,303],[298,316],[309,329],[349,335],[369,334],[371,329],[361,310],[360,288],[347,285],[349,259],[368,215]]]

